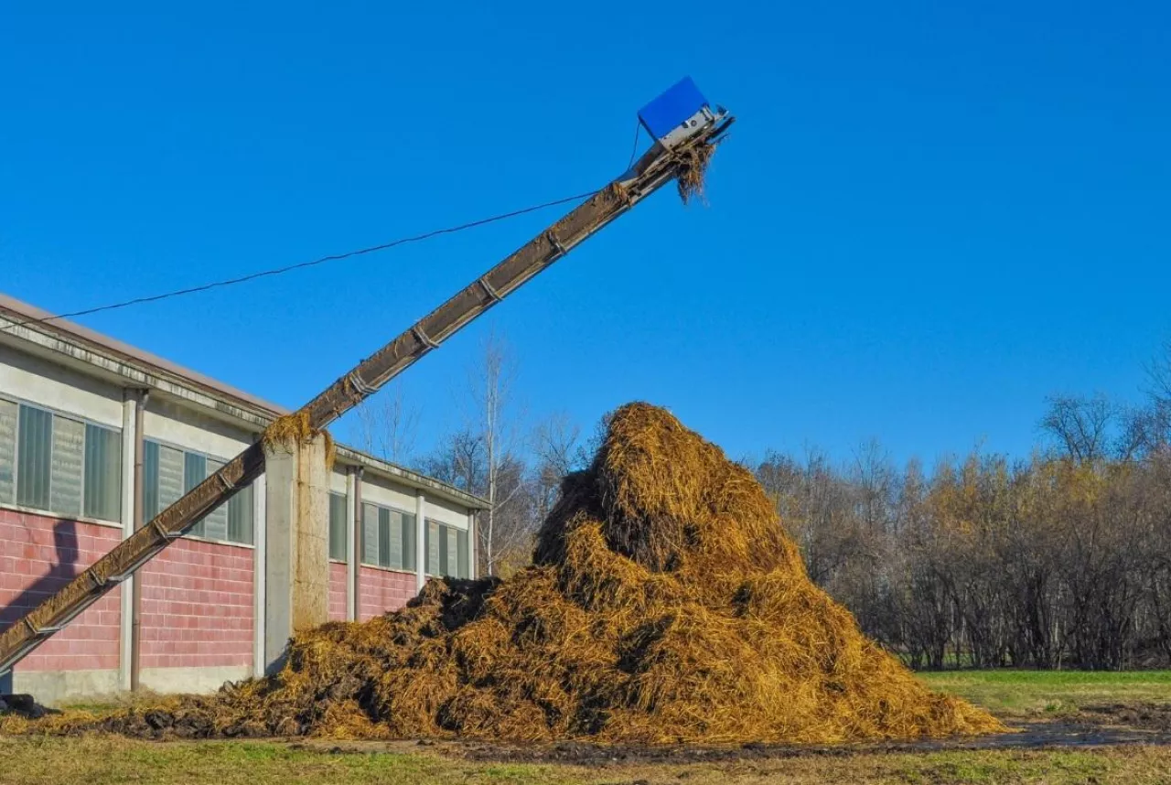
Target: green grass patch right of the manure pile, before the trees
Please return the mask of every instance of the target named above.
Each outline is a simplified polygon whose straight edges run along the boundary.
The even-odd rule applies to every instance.
[[[1000,717],[1060,716],[1102,703],[1171,703],[1171,670],[947,670],[917,676]]]

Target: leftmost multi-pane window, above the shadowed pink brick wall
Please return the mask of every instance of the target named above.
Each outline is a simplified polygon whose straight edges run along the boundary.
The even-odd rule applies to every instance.
[[[122,517],[121,434],[0,401],[0,504],[117,521]]]

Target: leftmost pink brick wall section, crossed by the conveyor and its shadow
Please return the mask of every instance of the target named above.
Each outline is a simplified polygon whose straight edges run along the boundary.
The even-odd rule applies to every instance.
[[[36,607],[122,539],[122,530],[0,510],[0,629]],[[118,667],[116,588],[16,665],[18,671]]]

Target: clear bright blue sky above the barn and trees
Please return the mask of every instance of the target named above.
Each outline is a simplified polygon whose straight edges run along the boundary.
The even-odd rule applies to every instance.
[[[598,187],[684,75],[732,110],[707,206],[659,192],[402,377],[420,450],[489,333],[529,421],[644,400],[841,460],[1025,456],[1171,337],[1164,2],[13,1],[0,74],[0,291],[55,313]],[[80,321],[295,408],[560,214]]]

